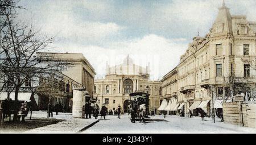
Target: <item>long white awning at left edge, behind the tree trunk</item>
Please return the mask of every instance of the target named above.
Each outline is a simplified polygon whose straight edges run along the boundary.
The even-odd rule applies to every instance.
[[[18,100],[19,101],[31,101],[30,100],[31,93],[30,92],[19,92],[18,93]],[[7,98],[7,92],[0,93],[0,100],[5,100]],[[15,93],[11,92],[10,99],[15,100]]]

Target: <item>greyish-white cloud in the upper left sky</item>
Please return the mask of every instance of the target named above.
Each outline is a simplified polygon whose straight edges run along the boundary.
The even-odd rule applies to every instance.
[[[105,5],[89,1],[41,1],[27,3],[26,10],[20,10],[19,19],[34,24],[49,36],[55,36],[56,41],[77,43],[98,43],[119,35],[125,27],[113,22],[98,22],[84,20],[76,7],[89,11],[105,10]],[[28,5],[30,4],[30,5]],[[35,7],[32,7],[35,5]]]

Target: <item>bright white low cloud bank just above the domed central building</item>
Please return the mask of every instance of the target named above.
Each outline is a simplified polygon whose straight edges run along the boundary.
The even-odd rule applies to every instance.
[[[60,52],[83,53],[96,69],[96,77],[105,76],[107,61],[111,66],[121,64],[129,54],[135,64],[146,68],[150,63],[151,79],[158,80],[179,63],[180,55],[187,48],[187,44],[180,43],[184,41],[183,38],[171,40],[150,34],[143,38],[114,42],[108,47],[69,43],[55,44],[55,48]]]

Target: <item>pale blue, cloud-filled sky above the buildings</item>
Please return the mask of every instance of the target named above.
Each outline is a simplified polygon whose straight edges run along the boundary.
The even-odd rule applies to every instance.
[[[255,0],[226,0],[232,15],[256,21]],[[160,80],[179,64],[188,43],[212,27],[222,0],[20,0],[18,19],[54,37],[53,52],[82,53],[105,76],[106,63],[150,65]]]

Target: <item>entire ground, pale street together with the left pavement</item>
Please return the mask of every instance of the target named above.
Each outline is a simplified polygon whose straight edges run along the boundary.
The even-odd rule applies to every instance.
[[[40,120],[46,118],[47,114],[44,111],[35,111],[32,119]],[[216,123],[212,122],[212,118],[205,118],[201,121],[200,117],[184,118],[176,115],[155,115],[150,121],[130,122],[130,115],[121,115],[118,119],[116,115],[107,115],[106,120],[100,119],[100,116],[95,119],[73,118],[71,113],[60,113],[53,115],[53,119],[60,119],[60,122],[53,123],[35,129],[26,131],[8,130],[5,133],[36,133],[36,134],[251,134],[256,133],[256,129],[231,125],[229,123],[220,122],[216,119]],[[29,118],[26,118],[27,121]],[[52,119],[52,118],[51,118]],[[20,125],[23,125],[20,123]],[[0,133],[2,132],[0,131]],[[3,133],[2,132],[2,133]]]

